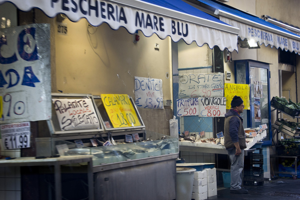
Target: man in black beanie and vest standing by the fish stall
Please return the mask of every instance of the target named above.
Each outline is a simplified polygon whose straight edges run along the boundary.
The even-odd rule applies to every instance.
[[[240,113],[244,110],[244,101],[234,96],[231,109],[225,114],[224,145],[231,161],[230,193],[246,194],[248,190],[241,187],[242,171],[244,168],[244,149],[246,148],[246,134],[243,127],[243,118]]]

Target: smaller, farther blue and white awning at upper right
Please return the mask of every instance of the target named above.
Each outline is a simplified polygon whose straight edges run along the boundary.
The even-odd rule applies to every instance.
[[[197,0],[202,5],[214,8],[214,14],[220,17],[220,20],[240,29],[238,37],[241,40],[255,40],[260,45],[270,45],[276,49],[285,49],[285,51],[295,52],[300,55],[300,35],[271,24],[257,16],[242,12],[241,10],[216,3],[210,0]]]

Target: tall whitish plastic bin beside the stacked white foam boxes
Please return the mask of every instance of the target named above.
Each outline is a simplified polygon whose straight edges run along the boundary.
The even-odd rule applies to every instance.
[[[193,168],[176,167],[176,200],[192,199],[195,171]]]

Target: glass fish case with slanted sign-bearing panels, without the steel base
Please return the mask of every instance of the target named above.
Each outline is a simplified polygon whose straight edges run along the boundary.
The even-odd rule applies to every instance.
[[[125,97],[122,98],[124,101]],[[47,122],[52,137],[36,138],[37,156],[93,155],[93,166],[97,166],[179,152],[177,138],[145,130],[131,97],[126,104],[132,107],[122,106],[119,110],[130,112],[119,115],[123,121],[128,121],[128,126],[118,127],[116,120],[119,118],[112,118],[113,111],[104,106],[101,96],[52,93],[52,119]],[[89,117],[83,120],[85,116]],[[79,126],[80,122],[83,126]]]

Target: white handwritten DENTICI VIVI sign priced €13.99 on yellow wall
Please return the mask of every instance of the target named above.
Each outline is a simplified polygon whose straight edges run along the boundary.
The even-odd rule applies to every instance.
[[[135,104],[139,108],[164,109],[161,79],[134,77]]]

